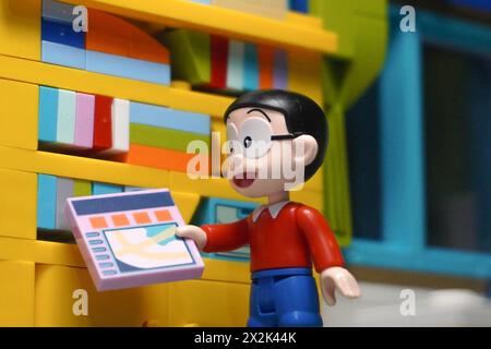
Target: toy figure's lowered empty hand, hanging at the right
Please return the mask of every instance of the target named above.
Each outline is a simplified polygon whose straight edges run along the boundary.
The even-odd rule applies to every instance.
[[[338,266],[326,268],[321,273],[322,296],[328,305],[336,304],[336,289],[349,299],[361,296],[358,282],[351,273]]]

